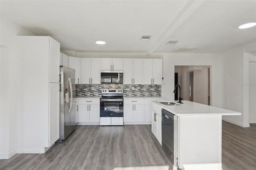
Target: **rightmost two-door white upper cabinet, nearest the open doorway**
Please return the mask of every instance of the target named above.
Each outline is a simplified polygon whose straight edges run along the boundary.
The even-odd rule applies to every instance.
[[[162,84],[162,59],[143,59],[143,84]]]

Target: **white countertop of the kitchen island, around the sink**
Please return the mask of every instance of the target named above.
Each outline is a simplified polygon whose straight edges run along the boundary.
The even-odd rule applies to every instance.
[[[200,103],[195,103],[191,101],[182,101],[183,104],[177,103],[177,101],[152,101],[156,103],[162,109],[173,113],[174,115],[183,116],[183,115],[241,115],[239,112],[230,111],[227,109],[221,109],[218,107],[203,105]],[[174,102],[178,104],[178,106],[168,106],[163,105],[159,102]]]

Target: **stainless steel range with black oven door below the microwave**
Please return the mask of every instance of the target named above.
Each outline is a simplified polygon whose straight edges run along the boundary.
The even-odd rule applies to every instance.
[[[124,125],[122,89],[103,89],[100,98],[100,125]]]

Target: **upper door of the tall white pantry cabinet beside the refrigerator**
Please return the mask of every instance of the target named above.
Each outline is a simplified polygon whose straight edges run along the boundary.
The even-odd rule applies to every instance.
[[[50,38],[50,51],[49,51],[49,82],[60,82],[60,43],[53,38]]]

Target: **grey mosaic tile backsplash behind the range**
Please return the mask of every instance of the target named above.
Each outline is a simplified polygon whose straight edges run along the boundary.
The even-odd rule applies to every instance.
[[[76,84],[76,97],[101,96],[102,89],[123,89],[123,96],[161,96],[161,85]]]

